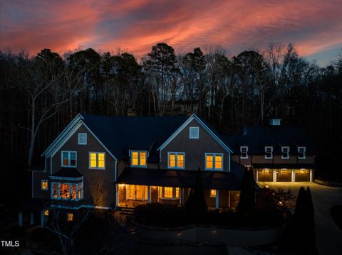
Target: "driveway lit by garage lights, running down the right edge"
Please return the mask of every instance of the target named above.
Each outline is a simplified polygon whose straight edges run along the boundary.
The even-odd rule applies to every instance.
[[[342,205],[342,188],[333,188],[316,183],[268,183],[269,187],[291,188],[298,194],[299,188],[310,187],[315,207],[317,249],[321,255],[340,255],[342,251],[342,231],[338,229],[330,215],[333,205]],[[264,183],[259,183],[262,187]]]

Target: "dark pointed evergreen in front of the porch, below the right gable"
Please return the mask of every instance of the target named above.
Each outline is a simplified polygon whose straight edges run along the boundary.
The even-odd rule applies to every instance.
[[[195,187],[191,188],[189,198],[185,203],[185,207],[189,213],[189,216],[195,219],[197,222],[207,215],[208,207],[204,198],[202,173],[200,168],[197,170]]]

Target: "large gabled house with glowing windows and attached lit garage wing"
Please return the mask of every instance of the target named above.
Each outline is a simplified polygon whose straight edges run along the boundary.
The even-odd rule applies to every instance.
[[[266,183],[312,181],[314,174],[308,135],[279,119],[247,127],[242,136],[221,136],[195,114],[78,114],[41,156],[45,166],[32,171],[32,198],[45,201],[42,222],[51,207],[71,210],[72,220],[72,210],[84,207],[183,205],[198,168],[207,205],[219,210],[236,207],[245,168]]]

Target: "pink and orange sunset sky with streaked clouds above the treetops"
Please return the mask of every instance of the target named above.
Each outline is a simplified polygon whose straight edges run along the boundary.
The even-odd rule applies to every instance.
[[[342,53],[342,0],[0,0],[0,49],[58,53],[118,48],[139,57],[165,42],[176,53],[216,45],[236,55],[295,43],[324,66]]]

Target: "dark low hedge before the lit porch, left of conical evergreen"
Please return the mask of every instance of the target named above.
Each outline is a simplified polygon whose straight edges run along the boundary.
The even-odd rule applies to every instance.
[[[190,222],[185,207],[159,202],[135,207],[134,220],[152,227],[180,227]]]

